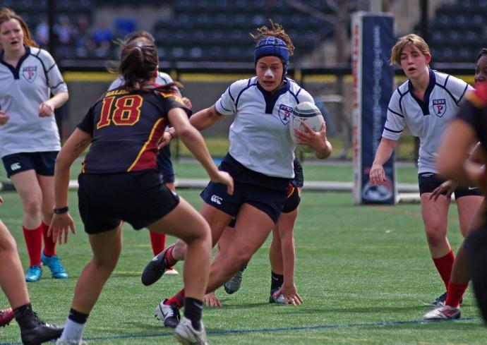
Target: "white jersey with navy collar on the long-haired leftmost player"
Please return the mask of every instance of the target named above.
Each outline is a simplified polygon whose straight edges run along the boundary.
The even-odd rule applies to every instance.
[[[40,117],[39,106],[59,92],[67,92],[51,54],[25,47],[16,68],[0,52],[0,108],[10,119],[0,126],[0,157],[19,152],[59,151],[59,132],[54,113]]]

